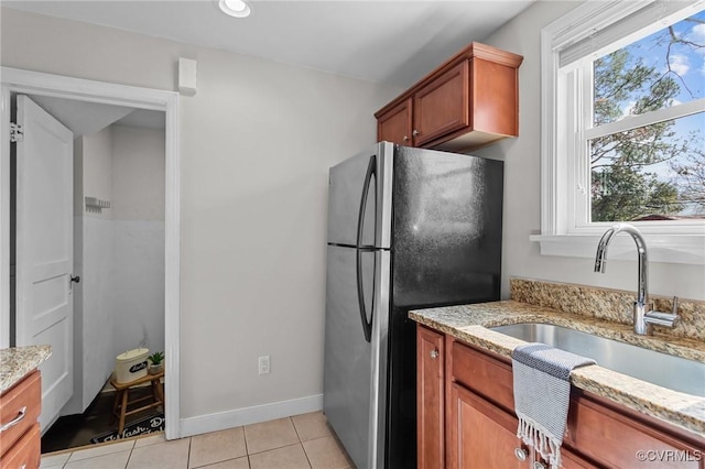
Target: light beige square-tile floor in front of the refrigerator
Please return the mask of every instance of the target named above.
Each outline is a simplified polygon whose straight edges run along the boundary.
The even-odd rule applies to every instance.
[[[42,469],[346,469],[321,412],[166,441],[164,434],[42,455]]]

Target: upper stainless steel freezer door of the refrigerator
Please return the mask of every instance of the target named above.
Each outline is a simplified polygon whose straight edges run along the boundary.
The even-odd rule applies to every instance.
[[[328,244],[390,247],[393,151],[381,142],[330,168]]]

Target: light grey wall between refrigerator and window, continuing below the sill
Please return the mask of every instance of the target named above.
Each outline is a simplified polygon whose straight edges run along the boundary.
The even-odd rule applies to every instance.
[[[541,55],[543,26],[575,8],[574,1],[539,1],[484,42],[521,54],[519,77],[520,116],[517,139],[476,152],[505,161],[505,234],[502,296],[509,296],[509,277],[522,276],[555,282],[636,290],[634,261],[609,261],[608,272],[594,273],[594,260],[541,255],[529,241],[541,230]],[[652,294],[705,299],[705,265],[650,264]]]

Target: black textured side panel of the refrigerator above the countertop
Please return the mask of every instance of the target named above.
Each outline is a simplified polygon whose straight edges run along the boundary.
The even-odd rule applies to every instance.
[[[502,162],[400,148],[394,160],[398,307],[499,297]]]

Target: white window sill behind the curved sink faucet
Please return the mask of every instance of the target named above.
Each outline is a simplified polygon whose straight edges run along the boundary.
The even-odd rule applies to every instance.
[[[705,263],[705,234],[659,234],[644,233],[649,262],[676,264]],[[571,258],[595,258],[600,233],[586,234],[532,234],[531,241],[539,242],[541,254]],[[628,236],[619,236],[609,244],[608,259],[637,260],[634,241]]]

